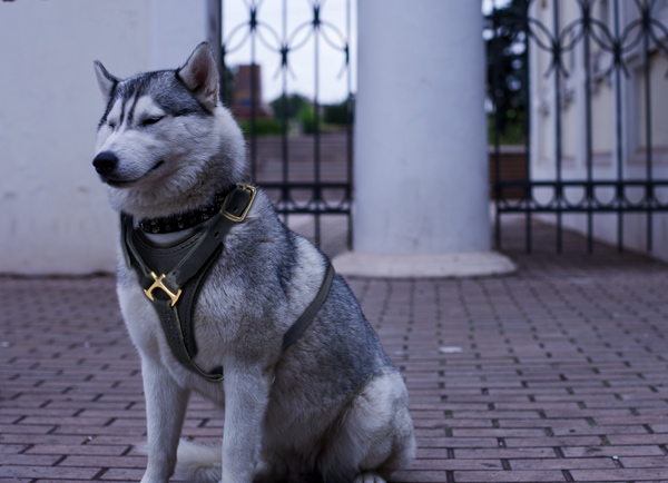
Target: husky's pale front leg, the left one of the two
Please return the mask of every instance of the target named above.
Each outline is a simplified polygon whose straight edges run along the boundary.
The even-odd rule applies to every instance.
[[[158,361],[149,357],[143,357],[141,375],[148,432],[148,464],[141,483],[166,483],[176,465],[189,392],[178,386]]]

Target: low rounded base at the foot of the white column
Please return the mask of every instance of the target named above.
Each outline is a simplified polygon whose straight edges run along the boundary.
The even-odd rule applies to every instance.
[[[495,252],[462,254],[373,254],[347,252],[332,260],[341,275],[370,278],[464,278],[510,275],[515,265]]]

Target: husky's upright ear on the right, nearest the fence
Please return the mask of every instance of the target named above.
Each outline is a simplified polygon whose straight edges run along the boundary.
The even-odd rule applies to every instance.
[[[207,42],[197,46],[176,76],[207,109],[218,105],[218,66]]]

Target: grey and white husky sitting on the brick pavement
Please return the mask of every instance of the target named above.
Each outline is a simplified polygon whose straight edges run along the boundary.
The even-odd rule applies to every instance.
[[[94,166],[114,208],[136,226],[196,211],[242,179],[244,138],[219,102],[208,45],[176,70],[125,80],[97,61],[95,70],[106,109]],[[170,247],[206,224],[145,237]],[[283,349],[330,262],[281,223],[261,190],[226,235],[194,306],[193,361],[223,367],[222,382],[175,357],[122,244],[117,292],[146,394],[141,482],[167,482],[176,471],[188,482],[380,483],[409,465],[415,440],[405,385],[341,276],[312,324]],[[179,444],[193,391],[224,408],[222,448]]]

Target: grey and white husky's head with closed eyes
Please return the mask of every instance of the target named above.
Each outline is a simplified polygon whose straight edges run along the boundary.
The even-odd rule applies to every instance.
[[[176,70],[129,79],[95,70],[107,102],[92,161],[116,208],[166,216],[206,203],[240,180],[244,140],[218,100],[218,69],[207,43]]]

